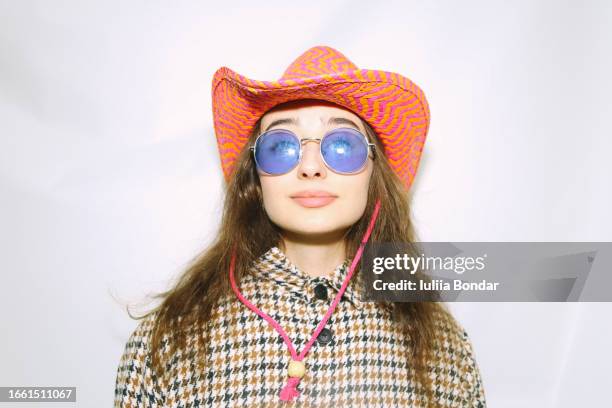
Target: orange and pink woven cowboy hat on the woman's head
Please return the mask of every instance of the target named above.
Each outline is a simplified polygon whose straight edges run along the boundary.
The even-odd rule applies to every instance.
[[[275,105],[297,99],[333,102],[367,122],[391,168],[410,188],[429,129],[425,94],[400,74],[359,69],[323,45],[305,51],[276,81],[249,79],[227,67],[215,72],[213,121],[226,181],[257,120]]]

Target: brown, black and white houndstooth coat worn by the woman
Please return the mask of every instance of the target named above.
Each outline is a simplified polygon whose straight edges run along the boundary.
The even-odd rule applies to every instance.
[[[276,320],[299,353],[328,310],[348,273],[348,260],[332,274],[312,277],[278,247],[258,258],[240,283],[244,297]],[[290,354],[281,336],[239,299],[225,296],[212,315],[210,366],[198,372],[176,356],[171,379],[151,369],[149,342],[156,314],[130,335],[115,382],[115,407],[426,407],[411,379],[409,343],[390,309],[362,301],[359,274],[304,358],[300,395],[279,399]],[[430,377],[444,407],[486,407],[472,344],[461,326],[440,323]],[[457,329],[459,327],[459,329]],[[180,354],[180,352],[179,352]]]

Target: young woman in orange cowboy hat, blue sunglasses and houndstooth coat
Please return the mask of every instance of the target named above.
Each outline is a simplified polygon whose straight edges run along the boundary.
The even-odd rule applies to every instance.
[[[318,46],[278,81],[222,67],[212,95],[218,236],[139,317],[115,406],[485,407],[441,303],[363,300],[365,243],[416,241],[423,92]]]

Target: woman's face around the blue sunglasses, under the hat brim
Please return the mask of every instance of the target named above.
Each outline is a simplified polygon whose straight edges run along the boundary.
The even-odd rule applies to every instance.
[[[277,123],[281,119],[287,121]],[[289,123],[290,119],[294,121]],[[367,135],[354,113],[332,103],[311,100],[289,102],[268,111],[261,119],[260,133],[288,129],[300,139],[321,138],[338,127],[352,127]],[[340,236],[363,215],[372,169],[370,153],[359,172],[336,173],[321,158],[319,143],[304,142],[302,159],[290,172],[268,175],[258,170],[265,210],[285,235]],[[296,198],[306,191],[326,192],[334,198],[322,206],[312,199]]]

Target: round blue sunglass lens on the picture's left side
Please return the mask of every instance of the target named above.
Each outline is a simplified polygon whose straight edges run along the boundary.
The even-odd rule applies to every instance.
[[[255,145],[255,162],[268,174],[284,174],[300,158],[300,141],[293,133],[275,129],[261,135]]]

